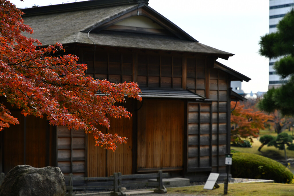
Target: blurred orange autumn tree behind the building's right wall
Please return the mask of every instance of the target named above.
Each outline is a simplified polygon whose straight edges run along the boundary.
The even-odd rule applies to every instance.
[[[235,102],[231,102],[231,110],[235,107]],[[235,109],[231,112],[231,141],[242,142],[244,139],[258,137],[259,130],[265,129],[265,123],[273,117],[256,110],[254,105],[245,108],[244,104],[237,102]]]

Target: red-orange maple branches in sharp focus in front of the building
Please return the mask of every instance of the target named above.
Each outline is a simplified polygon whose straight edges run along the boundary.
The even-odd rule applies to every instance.
[[[78,57],[52,56],[64,50],[60,43],[39,47],[37,39],[22,34],[33,33],[23,24],[23,14],[8,0],[0,0],[0,96],[21,108],[24,116],[46,115],[51,125],[93,134],[97,146],[115,150],[116,142],[126,143],[127,138],[103,134],[95,125],[109,127],[107,116],[129,118],[131,114],[124,107],[114,104],[123,102],[125,95],[141,100],[137,83],[85,77],[87,66],[77,63]],[[17,123],[0,103],[0,131]]]

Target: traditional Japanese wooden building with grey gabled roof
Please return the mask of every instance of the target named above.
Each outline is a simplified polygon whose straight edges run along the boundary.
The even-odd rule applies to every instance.
[[[0,172],[19,164],[58,166],[66,175],[109,176],[164,170],[205,179],[226,173],[230,152],[230,81],[250,78],[216,61],[233,54],[199,43],[148,6],[148,0],[92,0],[23,9],[44,46],[60,42],[88,65],[87,75],[134,81],[141,102],[126,99],[133,118],[111,119],[107,133],[128,138],[115,153],[91,135],[21,117],[0,133]]]

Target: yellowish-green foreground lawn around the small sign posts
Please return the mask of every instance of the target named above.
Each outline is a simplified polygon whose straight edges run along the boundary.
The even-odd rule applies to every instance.
[[[168,194],[201,194],[201,195],[223,195],[224,185],[213,190],[203,190],[203,186],[192,187],[177,187],[168,188]],[[294,185],[279,184],[279,183],[236,183],[228,185],[228,196],[244,196],[244,195],[258,195],[258,196],[293,196]]]

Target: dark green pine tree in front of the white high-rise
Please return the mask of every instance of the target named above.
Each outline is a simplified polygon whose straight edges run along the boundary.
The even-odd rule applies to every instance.
[[[269,89],[260,100],[259,108],[267,112],[277,109],[283,115],[294,115],[294,9],[280,20],[277,29],[277,32],[261,37],[259,52],[270,59],[279,59],[274,69],[286,80],[280,88]]]

